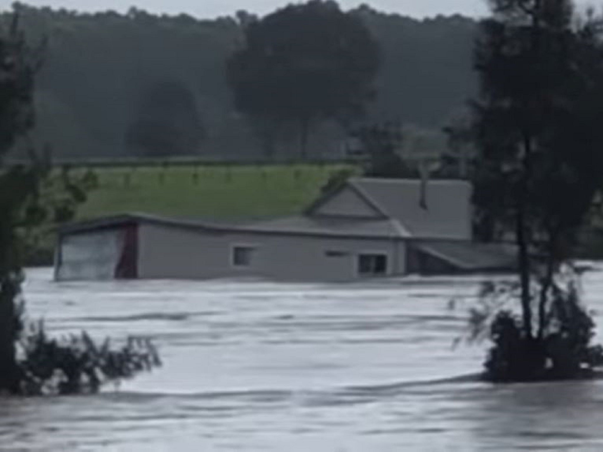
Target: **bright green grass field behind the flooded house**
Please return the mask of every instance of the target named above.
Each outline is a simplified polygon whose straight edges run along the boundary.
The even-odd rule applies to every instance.
[[[330,175],[350,165],[95,168],[98,187],[78,219],[142,212],[182,218],[254,219],[300,212]],[[84,169],[74,169],[81,172]]]

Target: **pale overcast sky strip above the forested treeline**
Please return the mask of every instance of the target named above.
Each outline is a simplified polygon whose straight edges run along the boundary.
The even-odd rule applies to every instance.
[[[25,4],[36,6],[63,7],[71,10],[116,10],[126,11],[130,5],[153,12],[178,14],[187,13],[196,17],[215,17],[232,14],[245,9],[256,13],[268,13],[281,7],[288,0],[23,0]],[[578,0],[581,4],[601,5],[602,0]],[[7,9],[12,0],[0,0],[0,7]],[[359,0],[339,0],[344,8],[352,8],[363,3]],[[480,16],[485,13],[484,0],[366,0],[378,10],[394,11],[400,14],[425,17],[437,14],[462,13]]]

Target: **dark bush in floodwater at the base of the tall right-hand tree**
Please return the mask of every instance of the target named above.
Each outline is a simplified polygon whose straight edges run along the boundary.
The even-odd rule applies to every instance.
[[[507,305],[517,300],[518,284],[482,285],[478,306],[470,310],[469,340],[493,342],[484,363],[486,380],[588,378],[603,365],[603,348],[591,345],[595,322],[580,302],[578,275],[564,276],[555,278],[543,312],[545,328],[537,336],[526,336],[522,316]],[[540,284],[532,289],[541,289]]]

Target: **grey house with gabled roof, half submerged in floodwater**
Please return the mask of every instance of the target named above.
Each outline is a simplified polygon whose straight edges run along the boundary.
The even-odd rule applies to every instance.
[[[472,241],[461,180],[351,178],[301,215],[226,225],[145,214],[62,227],[56,280],[355,281],[513,268],[513,248]]]

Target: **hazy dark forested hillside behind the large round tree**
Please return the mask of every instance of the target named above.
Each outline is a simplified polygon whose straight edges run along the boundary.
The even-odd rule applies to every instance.
[[[250,14],[199,20],[136,8],[127,14],[17,9],[28,40],[43,45],[33,138],[48,143],[55,158],[262,155],[225,74]],[[367,6],[350,14],[370,30],[382,61],[365,121],[403,124],[411,146],[443,146],[441,128],[476,91],[476,22],[417,20]],[[323,124],[311,137],[309,156],[338,155],[344,135],[336,124]],[[287,157],[294,142],[281,143],[277,157]]]

